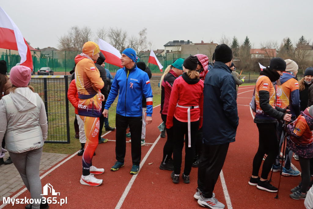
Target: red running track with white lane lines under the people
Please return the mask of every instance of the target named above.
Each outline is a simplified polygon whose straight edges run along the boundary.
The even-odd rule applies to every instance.
[[[258,148],[258,129],[253,122],[249,102],[254,86],[243,86],[238,92],[239,126],[236,142],[229,146],[223,170],[215,186],[216,198],[226,205],[225,208],[305,208],[303,200],[289,197],[290,189],[298,185],[300,176],[282,177],[279,199],[276,193],[259,190],[248,184],[252,172],[252,160]],[[67,204],[50,204],[50,208],[204,208],[199,206],[193,195],[197,188],[197,168],[192,168],[190,184],[173,184],[172,171],[159,169],[162,161],[163,146],[166,138],[160,138],[157,126],[162,122],[160,106],[154,108],[153,122],[147,125],[146,146],[141,147],[141,168],[137,175],[131,175],[131,145],[127,143],[125,166],[112,172],[110,167],[115,160],[115,142],[100,144],[93,158],[93,165],[104,168],[105,173],[97,175],[103,183],[98,187],[81,185],[81,157],[73,154],[64,159],[59,167],[47,171],[42,178],[42,185],[50,183],[60,196],[67,197]],[[115,140],[115,131],[105,138]],[[128,139],[126,138],[128,141]],[[184,159],[184,158],[183,158]],[[150,164],[152,163],[152,164]],[[183,162],[184,163],[184,162]],[[182,163],[182,165],[183,165]],[[294,159],[297,169],[300,165]],[[58,165],[56,165],[58,166]],[[52,171],[51,171],[52,170]],[[49,173],[49,174],[48,174]],[[277,186],[279,172],[273,174],[272,184]],[[23,189],[21,189],[23,191]],[[17,194],[22,192],[16,192]],[[16,194],[13,194],[14,196]],[[12,197],[11,196],[11,197]],[[28,191],[15,198],[30,198]],[[7,205],[4,208],[24,208],[25,204]],[[0,208],[2,208],[0,206]]]

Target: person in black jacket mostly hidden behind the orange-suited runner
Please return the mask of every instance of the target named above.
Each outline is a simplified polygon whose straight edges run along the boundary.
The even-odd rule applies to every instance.
[[[101,94],[104,95],[105,100],[102,102],[102,112],[104,110],[104,106],[105,106],[105,101],[106,99],[108,99],[108,82],[106,80],[106,72],[105,72],[105,68],[101,66],[101,64],[105,61],[105,56],[102,54],[102,52],[100,52],[99,58],[97,60],[97,62],[95,63],[95,66],[98,68],[99,72],[100,72],[100,78],[102,78],[103,82],[104,82],[104,87],[101,89]],[[108,139],[104,139],[101,137],[102,135],[102,128],[104,125],[104,116],[101,114],[100,118],[100,129],[99,129],[99,144],[100,143],[105,143],[108,141]]]

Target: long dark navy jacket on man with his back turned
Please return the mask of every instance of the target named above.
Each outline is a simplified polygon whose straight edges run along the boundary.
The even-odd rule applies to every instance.
[[[239,123],[235,81],[231,69],[215,62],[204,79],[203,143],[207,145],[234,142]]]

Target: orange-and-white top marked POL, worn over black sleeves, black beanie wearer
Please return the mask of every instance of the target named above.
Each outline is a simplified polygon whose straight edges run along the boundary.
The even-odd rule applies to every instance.
[[[259,76],[256,85],[255,85],[255,103],[256,103],[256,114],[259,117],[262,117],[264,111],[260,107],[260,98],[259,91],[268,91],[269,92],[269,104],[275,108],[275,88],[273,83],[269,80],[267,76]],[[266,117],[266,114],[264,115]]]

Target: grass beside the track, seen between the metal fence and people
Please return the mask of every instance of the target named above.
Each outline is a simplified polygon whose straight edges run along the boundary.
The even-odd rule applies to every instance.
[[[158,80],[150,80],[151,88],[153,91],[153,106],[161,104],[161,89],[158,88]],[[116,97],[115,101],[112,103],[109,109],[109,125],[111,127],[115,127],[115,114],[116,114],[116,105],[117,105]],[[70,108],[72,105],[69,103]],[[154,117],[157,117],[159,114],[158,112],[154,112],[152,114],[152,120]],[[69,117],[69,130],[70,130],[70,143],[69,144],[52,144],[52,143],[45,143],[43,152],[47,153],[60,153],[60,154],[73,154],[77,152],[81,145],[79,139],[75,139],[75,131],[74,131],[74,119],[75,115],[71,115]],[[102,129],[102,134],[106,133],[105,128]]]

